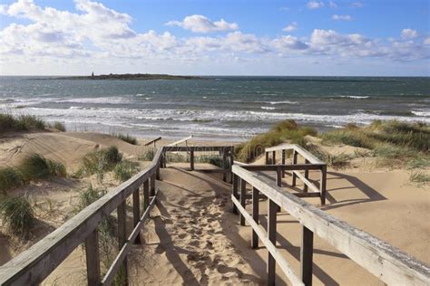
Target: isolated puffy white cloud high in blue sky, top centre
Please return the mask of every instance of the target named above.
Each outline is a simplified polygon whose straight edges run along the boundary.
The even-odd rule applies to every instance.
[[[186,16],[182,21],[169,21],[166,25],[179,26],[195,33],[210,33],[239,29],[239,25],[236,23],[228,23],[224,19],[212,22],[208,17],[200,14]]]

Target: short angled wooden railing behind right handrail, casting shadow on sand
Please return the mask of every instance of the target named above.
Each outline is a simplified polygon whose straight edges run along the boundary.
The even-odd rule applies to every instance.
[[[272,153],[271,162],[272,165],[276,165],[276,152],[281,152],[281,166],[285,166],[286,164],[286,154],[288,150],[292,150],[292,162],[291,165],[287,166],[293,166],[292,168],[283,168],[281,171],[282,177],[285,176],[286,170],[291,170],[292,175],[292,186],[296,186],[297,178],[299,178],[303,182],[303,192],[301,193],[302,197],[306,196],[319,196],[321,200],[321,205],[326,204],[326,182],[327,182],[327,164],[318,157],[315,157],[311,153],[308,152],[308,150],[301,148],[300,146],[296,144],[281,144],[279,146],[266,148],[266,165],[269,164],[269,153]],[[298,165],[298,155],[303,157],[305,159],[305,165],[312,165],[317,168],[300,168]],[[294,167],[297,166],[297,167]],[[309,180],[309,170],[311,169],[318,169],[321,172],[320,181],[319,181],[319,187],[315,186],[314,183],[312,183]],[[300,173],[300,170],[304,170],[305,174]],[[279,179],[280,181],[280,179]],[[312,192],[308,192],[308,189],[310,189]]]

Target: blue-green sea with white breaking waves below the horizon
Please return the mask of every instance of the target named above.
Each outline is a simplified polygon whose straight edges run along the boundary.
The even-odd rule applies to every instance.
[[[61,121],[69,130],[243,140],[282,119],[317,129],[375,119],[430,123],[430,78],[85,81],[0,77],[0,109]]]

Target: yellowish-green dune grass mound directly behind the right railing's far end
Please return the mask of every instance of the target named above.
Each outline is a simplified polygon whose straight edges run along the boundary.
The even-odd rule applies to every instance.
[[[294,120],[281,121],[275,124],[268,132],[259,134],[235,148],[236,157],[239,161],[250,162],[259,157],[265,148],[287,141],[305,146],[305,136],[307,135],[317,136],[317,130],[309,127],[299,127]]]

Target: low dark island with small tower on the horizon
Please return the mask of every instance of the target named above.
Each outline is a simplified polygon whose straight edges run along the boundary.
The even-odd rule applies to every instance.
[[[197,80],[202,79],[198,76],[190,75],[170,75],[170,74],[151,74],[151,73],[109,73],[89,76],[64,76],[52,78],[54,80],[134,80],[134,81],[147,81],[147,80]]]

